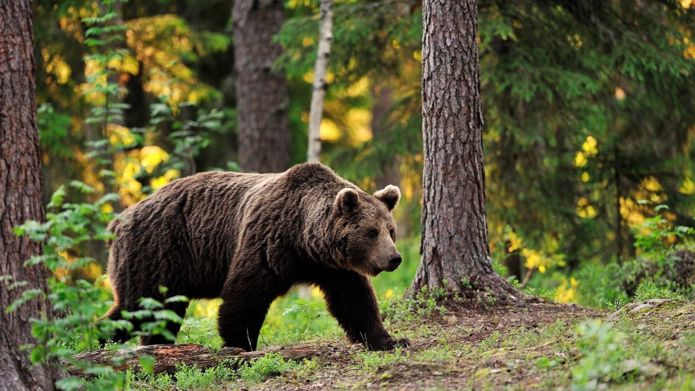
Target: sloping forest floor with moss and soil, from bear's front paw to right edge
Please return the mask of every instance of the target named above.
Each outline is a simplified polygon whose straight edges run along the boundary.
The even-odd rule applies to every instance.
[[[413,345],[364,351],[344,340],[254,390],[694,390],[695,303],[653,299],[616,313],[557,303],[463,305],[394,330]]]

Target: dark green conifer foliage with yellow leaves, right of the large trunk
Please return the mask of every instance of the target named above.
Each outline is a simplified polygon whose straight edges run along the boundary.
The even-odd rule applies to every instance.
[[[692,197],[665,174],[678,167],[673,174],[685,180],[691,167],[692,144],[673,132],[695,122],[678,99],[678,91],[695,89],[687,76],[695,61],[678,41],[692,26],[691,10],[675,1],[481,2],[493,221],[576,267],[615,246],[630,249],[627,224],[616,231],[615,221],[640,210],[628,203],[651,194],[649,178],[675,213],[692,215]],[[673,144],[686,152],[668,153]],[[609,233],[622,242],[606,240]]]

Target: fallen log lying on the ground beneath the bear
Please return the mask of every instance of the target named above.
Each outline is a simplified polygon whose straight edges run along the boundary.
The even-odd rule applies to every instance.
[[[166,372],[173,374],[177,370],[177,365],[181,363],[195,365],[204,370],[229,359],[234,359],[233,365],[238,366],[241,363],[263,357],[267,353],[279,353],[286,361],[302,360],[318,354],[316,350],[311,349],[311,345],[297,345],[259,351],[245,351],[244,349],[234,347],[224,347],[220,351],[213,351],[201,344],[159,344],[114,350],[99,349],[87,351],[70,356],[70,360],[63,359],[61,361],[70,374],[74,376],[91,376],[89,368],[97,365],[109,365],[117,371],[134,369],[139,372],[142,370],[140,357],[150,356],[154,358],[154,365],[152,366],[154,373]]]

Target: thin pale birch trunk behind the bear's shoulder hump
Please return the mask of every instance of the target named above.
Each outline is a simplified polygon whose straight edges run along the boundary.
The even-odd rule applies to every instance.
[[[316,51],[316,65],[313,69],[311,108],[309,108],[307,162],[321,161],[321,119],[323,117],[323,99],[326,97],[328,57],[331,53],[331,42],[333,42],[333,0],[321,0],[318,15],[318,49]]]

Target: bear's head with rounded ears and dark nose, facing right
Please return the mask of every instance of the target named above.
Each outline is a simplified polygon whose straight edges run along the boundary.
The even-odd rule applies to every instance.
[[[338,266],[376,276],[393,272],[401,263],[395,248],[395,220],[391,212],[398,205],[400,190],[388,185],[373,195],[353,188],[336,194],[333,228]]]

